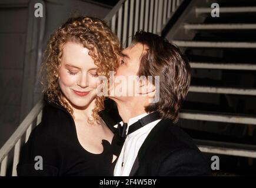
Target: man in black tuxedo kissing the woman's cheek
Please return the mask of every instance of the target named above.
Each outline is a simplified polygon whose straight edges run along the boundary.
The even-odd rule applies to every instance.
[[[147,79],[137,79],[134,87],[125,82],[129,76]],[[190,83],[189,63],[177,47],[158,35],[137,32],[132,45],[122,51],[114,80],[112,93],[121,88],[122,94],[136,94],[110,96],[122,118],[119,132],[126,137],[115,176],[211,174],[191,137],[174,125]]]

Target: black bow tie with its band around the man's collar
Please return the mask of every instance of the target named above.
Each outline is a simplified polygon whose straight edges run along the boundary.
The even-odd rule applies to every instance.
[[[137,122],[133,123],[132,125],[129,126],[129,129],[128,129],[128,133],[126,134],[127,132],[127,127],[128,127],[128,124],[127,123],[124,123],[122,126],[120,123],[118,123],[118,126],[117,126],[117,129],[118,129],[118,135],[121,137],[121,138],[124,138],[131,134],[132,132],[135,132],[135,130],[138,130],[140,129],[141,127],[145,126],[145,125],[148,125],[148,123],[151,123],[151,122],[154,122],[155,120],[158,120],[160,119],[160,115],[158,112],[152,112],[152,113],[149,113],[149,115],[145,116],[145,117],[142,117],[141,119],[139,119]]]

